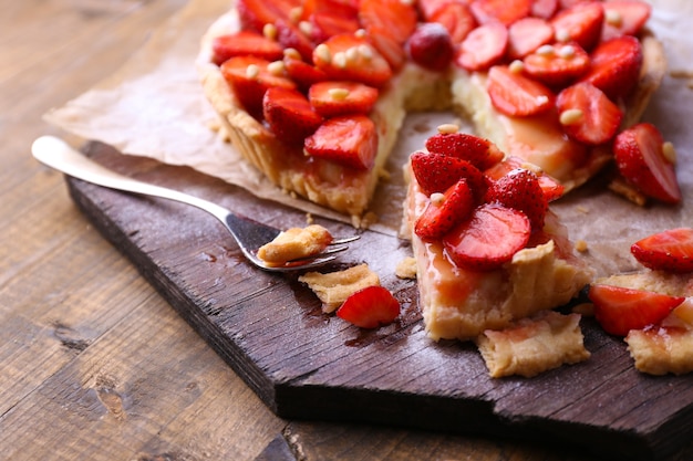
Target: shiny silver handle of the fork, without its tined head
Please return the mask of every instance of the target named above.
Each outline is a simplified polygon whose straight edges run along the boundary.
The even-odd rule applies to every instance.
[[[31,153],[42,164],[97,186],[192,205],[214,214],[221,221],[225,221],[229,214],[229,210],[210,201],[177,190],[142,182],[112,171],[77,153],[64,140],[53,136],[42,136],[34,140],[31,146]]]

